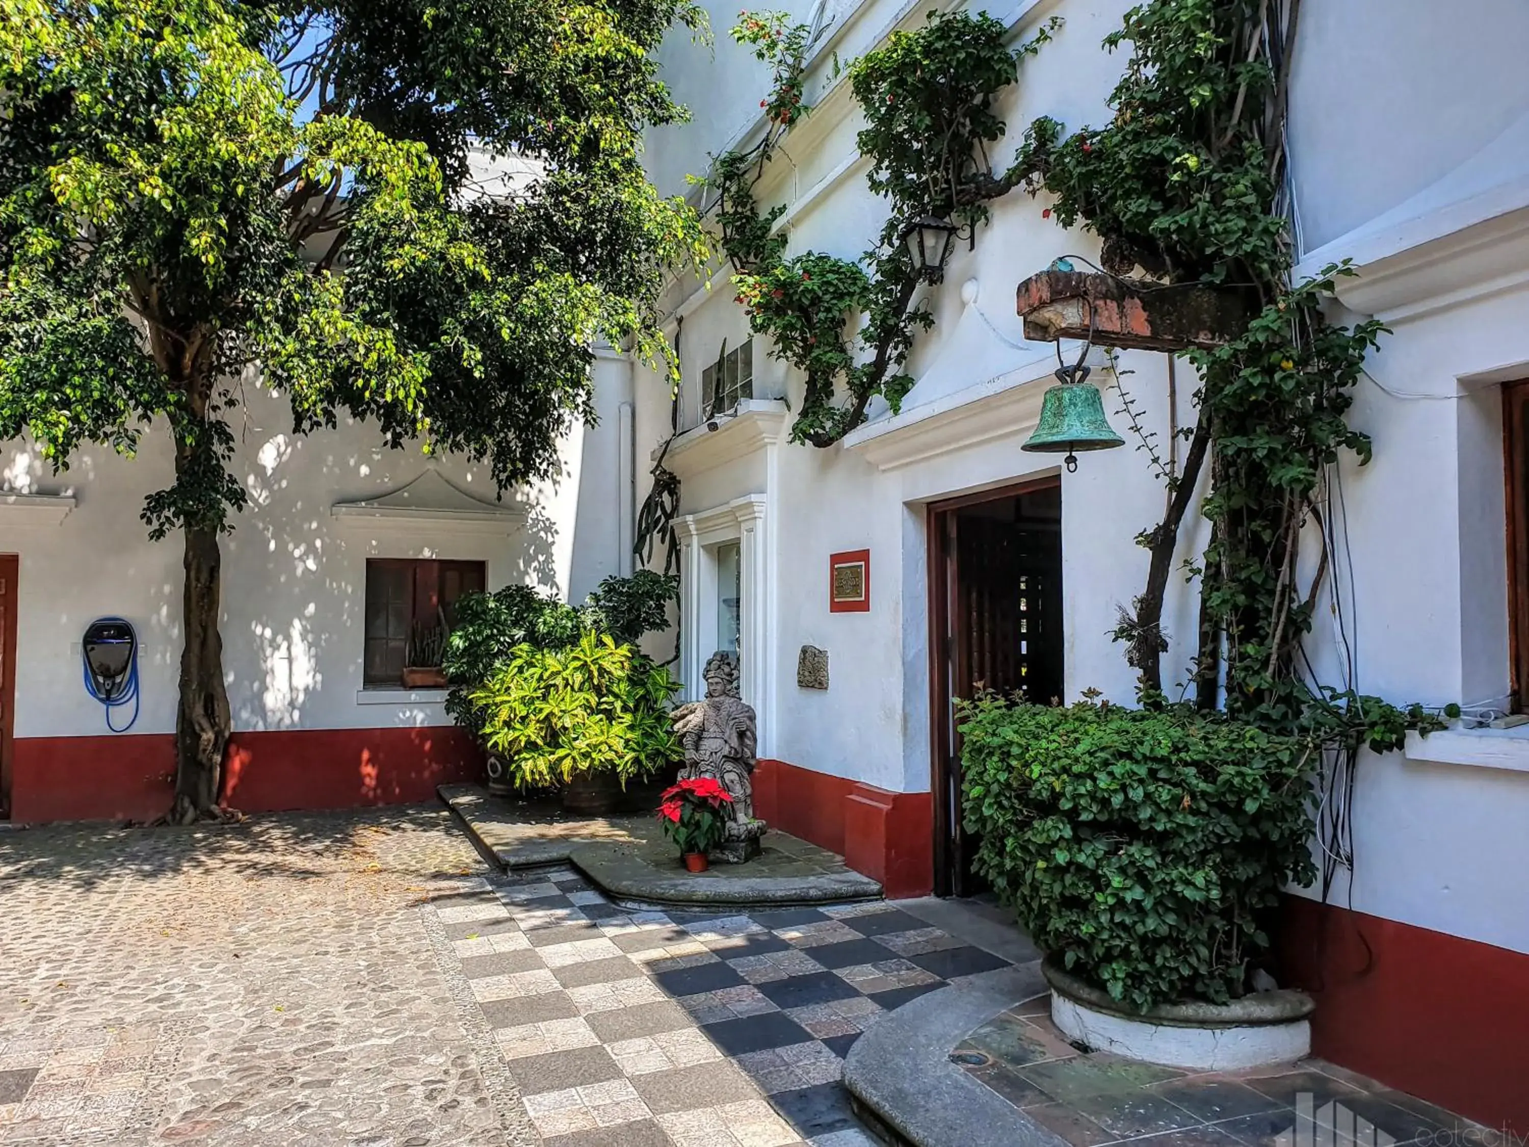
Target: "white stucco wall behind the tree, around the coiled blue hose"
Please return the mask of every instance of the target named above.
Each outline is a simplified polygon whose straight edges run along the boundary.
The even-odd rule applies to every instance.
[[[595,366],[595,427],[563,442],[564,474],[520,496],[523,526],[465,532],[448,523],[336,518],[338,502],[398,489],[428,465],[492,500],[485,468],[417,448],[388,450],[375,428],[342,422],[297,436],[284,399],[246,385],[234,422],[232,471],[249,506],[222,541],[223,668],[235,729],[376,728],[446,723],[437,694],[425,703],[361,691],[362,609],[368,557],[437,557],[486,563],[489,587],[528,583],[581,601],[619,554],[619,407],[631,398],[625,361]],[[75,497],[61,525],[21,526],[0,505],[0,552],[20,554],[15,736],[106,733],[101,705],[81,684],[78,642],[102,615],[138,629],[142,713],[135,733],[174,729],[180,658],[180,541],[147,538],[144,496],[171,480],[168,442],[150,433],[128,460],[104,448],[80,453],[54,476],[26,442],[0,445],[0,488]],[[365,703],[362,703],[365,702]],[[115,714],[116,723],[125,720]]]

